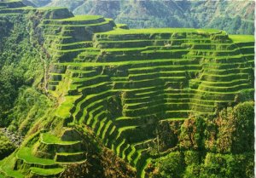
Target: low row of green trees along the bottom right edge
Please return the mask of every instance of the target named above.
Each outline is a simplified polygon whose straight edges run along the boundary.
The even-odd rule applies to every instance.
[[[155,165],[149,165],[149,169]],[[160,158],[150,177],[154,178],[251,178],[253,177],[253,153],[220,154],[207,152],[171,152]],[[151,168],[152,169],[152,168]]]

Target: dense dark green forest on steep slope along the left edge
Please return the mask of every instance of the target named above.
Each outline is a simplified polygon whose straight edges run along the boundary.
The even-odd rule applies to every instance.
[[[0,37],[0,127],[8,127],[15,119],[10,114],[19,103],[19,95],[23,95],[24,88],[40,83],[44,65],[31,43],[24,16],[8,16],[1,23],[8,31]]]

